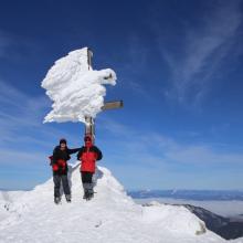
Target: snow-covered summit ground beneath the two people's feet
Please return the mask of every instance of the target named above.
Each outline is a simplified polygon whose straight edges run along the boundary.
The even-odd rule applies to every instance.
[[[95,197],[82,199],[77,166],[70,169],[72,203],[53,203],[52,179],[9,204],[0,242],[222,243],[184,207],[136,204],[106,168],[95,175]],[[233,241],[236,242],[236,241]],[[237,242],[240,243],[240,242]]]

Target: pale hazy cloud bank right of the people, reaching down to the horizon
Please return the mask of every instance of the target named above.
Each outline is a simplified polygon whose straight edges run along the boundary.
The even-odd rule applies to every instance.
[[[126,188],[241,188],[241,150],[231,151],[226,145],[186,144],[107,118],[99,119],[98,127],[97,146],[105,155],[102,165]]]

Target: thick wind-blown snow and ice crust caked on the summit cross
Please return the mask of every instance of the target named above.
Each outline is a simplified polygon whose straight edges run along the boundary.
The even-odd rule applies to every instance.
[[[57,60],[41,85],[53,101],[44,123],[84,123],[85,116],[95,117],[104,105],[104,84],[115,85],[116,73],[110,68],[88,70],[87,47]]]

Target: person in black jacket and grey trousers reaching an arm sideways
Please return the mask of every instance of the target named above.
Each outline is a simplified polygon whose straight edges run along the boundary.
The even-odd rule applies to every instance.
[[[60,187],[61,182],[63,186],[63,191],[67,202],[71,202],[71,191],[67,179],[67,160],[71,159],[70,155],[77,152],[81,148],[70,149],[66,146],[66,139],[62,138],[60,145],[53,150],[53,156],[51,158],[51,166],[53,170],[53,181],[54,181],[54,202],[59,204],[61,202]]]

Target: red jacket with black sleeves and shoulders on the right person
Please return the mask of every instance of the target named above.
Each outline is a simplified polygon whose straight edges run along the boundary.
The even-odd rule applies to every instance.
[[[102,159],[102,151],[96,147],[82,147],[77,158],[81,160],[81,171],[95,172],[96,160]]]

